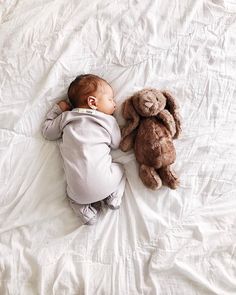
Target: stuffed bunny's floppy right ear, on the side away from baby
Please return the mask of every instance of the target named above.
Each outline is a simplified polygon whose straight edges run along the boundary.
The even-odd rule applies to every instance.
[[[176,133],[173,137],[175,139],[179,137],[182,131],[181,118],[179,114],[179,104],[169,91],[162,91],[162,94],[166,97],[166,109],[171,113],[175,120]]]

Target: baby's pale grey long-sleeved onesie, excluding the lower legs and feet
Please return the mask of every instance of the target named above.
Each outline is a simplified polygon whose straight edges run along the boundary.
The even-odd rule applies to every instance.
[[[42,132],[48,140],[61,138],[67,194],[72,200],[94,203],[119,190],[124,170],[112,162],[110,150],[119,147],[121,135],[112,115],[84,108],[62,112],[56,104],[47,113]]]

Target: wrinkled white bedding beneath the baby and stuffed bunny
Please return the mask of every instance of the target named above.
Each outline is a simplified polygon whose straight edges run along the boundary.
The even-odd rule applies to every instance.
[[[0,294],[236,294],[234,0],[0,1]],[[176,191],[145,188],[133,152],[119,211],[82,226],[56,142],[40,133],[78,74],[121,103],[144,87],[181,105]]]

